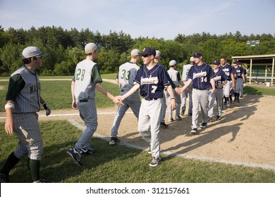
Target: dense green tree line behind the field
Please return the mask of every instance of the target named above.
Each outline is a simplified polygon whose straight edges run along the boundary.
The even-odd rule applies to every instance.
[[[260,40],[258,48],[246,46],[247,41]],[[85,30],[64,30],[62,27],[31,27],[30,30],[4,30],[0,25],[0,75],[8,76],[23,64],[21,53],[26,46],[37,46],[41,51],[48,53],[44,58],[39,75],[73,75],[75,65],[85,58],[85,44],[94,42],[103,47],[100,49],[97,64],[102,73],[118,72],[118,66],[129,61],[132,49],[144,49],[152,46],[164,54],[162,65],[169,65],[175,60],[179,65],[189,62],[195,51],[201,51],[203,60],[212,64],[221,57],[231,59],[231,56],[247,56],[274,54],[274,34],[242,35],[226,33],[222,35],[209,34],[178,34],[173,40],[138,37],[132,38],[125,32],[101,34]],[[140,61],[142,65],[142,61]],[[181,68],[178,68],[181,69]]]

